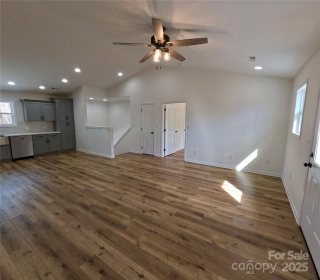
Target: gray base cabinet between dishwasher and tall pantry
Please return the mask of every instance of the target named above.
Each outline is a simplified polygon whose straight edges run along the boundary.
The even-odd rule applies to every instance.
[[[60,133],[32,135],[34,155],[62,149]]]

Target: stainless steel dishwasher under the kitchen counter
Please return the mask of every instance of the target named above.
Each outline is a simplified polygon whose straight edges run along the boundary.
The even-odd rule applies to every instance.
[[[11,136],[10,142],[13,159],[33,155],[31,135]]]

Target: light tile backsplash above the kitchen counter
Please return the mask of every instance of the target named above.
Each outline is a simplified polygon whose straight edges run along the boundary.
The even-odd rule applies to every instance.
[[[51,132],[53,130],[53,121],[18,121],[18,126],[1,127],[2,134],[18,134],[18,133],[36,133],[36,132]]]

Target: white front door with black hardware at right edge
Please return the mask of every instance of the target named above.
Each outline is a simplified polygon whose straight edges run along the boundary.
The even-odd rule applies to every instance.
[[[320,106],[312,142],[307,181],[302,205],[300,226],[307,242],[315,268],[320,274]],[[308,165],[307,165],[308,164]]]

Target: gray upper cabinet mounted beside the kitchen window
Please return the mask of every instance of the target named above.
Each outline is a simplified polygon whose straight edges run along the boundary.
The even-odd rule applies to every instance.
[[[21,99],[24,121],[55,120],[54,102]]]

